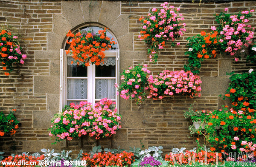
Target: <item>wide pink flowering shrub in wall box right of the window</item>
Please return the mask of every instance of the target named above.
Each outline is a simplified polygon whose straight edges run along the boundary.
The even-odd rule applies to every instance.
[[[183,94],[189,96],[201,96],[199,76],[190,71],[169,71],[165,70],[157,76],[148,77],[150,95],[148,98],[163,99],[166,95]]]

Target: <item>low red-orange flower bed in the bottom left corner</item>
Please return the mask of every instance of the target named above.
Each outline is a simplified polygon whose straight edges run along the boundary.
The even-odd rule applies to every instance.
[[[5,159],[2,160],[3,162],[15,162],[16,164],[6,164],[4,167],[36,167],[38,166],[38,161],[44,160],[44,155],[41,155],[39,157],[35,157],[35,156],[28,156],[25,154],[22,155],[15,155],[14,157],[9,156]],[[18,163],[20,162],[20,164]],[[21,162],[23,164],[21,164]],[[36,163],[36,165],[34,165],[34,163]],[[29,164],[29,165],[26,165]],[[31,165],[30,165],[31,164]],[[0,164],[1,167],[3,167],[2,164]]]

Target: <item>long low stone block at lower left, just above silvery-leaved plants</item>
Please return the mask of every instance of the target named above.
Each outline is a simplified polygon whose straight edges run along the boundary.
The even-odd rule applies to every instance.
[[[53,142],[55,142],[55,141],[53,141],[53,140],[52,141],[40,141],[40,142],[24,141],[23,142],[23,151],[25,151],[25,152],[40,151],[41,152],[42,148],[46,148],[49,150],[54,149],[55,152],[58,152],[58,150],[60,150],[60,144],[59,143],[52,144]]]

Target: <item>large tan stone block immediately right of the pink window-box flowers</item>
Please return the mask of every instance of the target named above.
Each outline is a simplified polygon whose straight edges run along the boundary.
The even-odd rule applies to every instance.
[[[143,128],[143,120],[145,113],[143,111],[122,111],[121,125],[123,128]]]

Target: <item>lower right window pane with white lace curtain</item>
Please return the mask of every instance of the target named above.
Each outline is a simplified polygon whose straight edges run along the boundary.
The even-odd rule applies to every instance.
[[[116,88],[114,86],[116,79],[95,79],[95,98],[96,99],[115,99]]]

